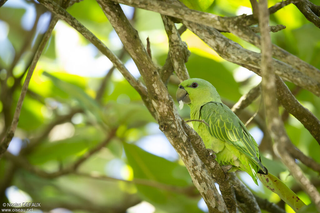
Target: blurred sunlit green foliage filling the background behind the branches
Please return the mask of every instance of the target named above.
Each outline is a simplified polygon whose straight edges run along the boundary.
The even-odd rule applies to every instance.
[[[248,8],[250,2],[247,0],[182,2],[192,9],[222,16],[234,16],[242,14],[243,11],[250,11],[250,8]],[[269,6],[272,6],[277,1],[268,2]],[[36,36],[29,35],[30,29],[26,29],[25,23],[32,22],[33,19],[26,11],[30,8],[37,8],[33,12],[44,13],[44,11],[38,9],[42,6],[27,0],[13,3],[16,6],[8,3],[10,3],[10,0],[0,8],[0,31],[4,32],[1,34],[2,37],[0,36],[0,39],[2,39],[0,41],[1,53],[4,53],[0,54],[0,72],[5,75],[4,70],[10,69],[13,57],[19,54],[25,42],[29,42],[28,48],[21,54],[20,60],[13,69],[13,76],[18,78],[28,67],[35,47],[42,37],[42,34],[39,33],[40,28],[45,27],[46,24],[42,23],[41,25],[39,21]],[[319,5],[320,1],[316,0],[313,3]],[[17,5],[27,6],[19,7]],[[123,8],[131,19],[133,16],[132,8],[127,6]],[[112,26],[96,1],[84,0],[74,4],[67,11],[119,55],[122,44],[117,40]],[[272,14],[270,20],[272,25],[283,24],[286,26],[286,29],[271,34],[273,43],[320,69],[320,31],[317,27],[308,22],[292,4]],[[146,38],[149,37],[153,60],[156,65],[162,66],[167,56],[168,44],[160,15],[155,12],[136,9],[132,24],[138,30],[140,39],[144,44],[146,44]],[[61,32],[61,26],[66,26],[66,24],[59,21],[53,31],[32,76],[29,91],[22,106],[15,137],[23,141],[21,144],[12,144],[9,150],[17,147],[23,148],[29,141],[33,141],[41,135],[55,119],[68,115],[74,109],[80,109],[82,112],[76,113],[71,119],[55,126],[41,140],[41,143],[27,154],[26,157],[31,164],[48,172],[57,171],[61,167],[72,164],[78,157],[83,156],[103,141],[110,129],[117,128],[116,137],[82,164],[79,171],[127,180],[147,179],[182,188],[192,186],[188,171],[180,160],[168,160],[168,157],[168,159],[165,159],[160,152],[157,153],[156,149],[161,149],[161,146],[168,144],[164,137],[162,141],[150,140],[144,142],[143,145],[139,143],[146,136],[161,133],[154,127],[155,125],[152,125],[156,121],[144,106],[140,95],[117,70],[112,73],[107,81],[101,100],[95,100],[101,81],[111,66],[107,63],[100,63],[101,60],[104,60],[101,59],[104,56],[77,32],[74,32],[72,38],[76,38],[77,45],[82,50],[79,52],[76,49],[74,51],[72,51],[73,49],[67,49],[68,42],[61,43],[63,38],[61,40],[57,39],[58,31],[60,30],[59,33],[63,33]],[[244,48],[260,51],[234,35],[228,33],[225,33],[225,35],[239,42]],[[65,34],[64,36],[67,38],[69,35]],[[28,37],[30,39],[26,40]],[[190,77],[210,81],[217,88],[224,101],[235,103],[242,94],[259,83],[259,78],[253,73],[239,70],[237,65],[222,59],[189,30],[182,35],[182,39],[187,42],[191,51],[191,56],[186,63]],[[58,46],[59,44],[60,46]],[[57,48],[65,48],[60,49],[60,51],[70,51],[70,54],[68,57],[62,56]],[[88,52],[92,52],[91,55]],[[66,61],[74,55],[84,54],[90,55],[88,61],[89,59],[94,61],[92,65],[102,64],[100,65],[100,73],[93,75],[93,68],[79,70],[79,73],[70,71]],[[128,63],[126,65],[130,72],[137,77],[140,76],[135,72],[136,67],[132,63],[130,64],[128,55],[125,55],[122,60],[124,63]],[[77,62],[80,62],[80,60],[75,61],[75,63]],[[237,77],[239,75],[243,78],[239,79]],[[11,111],[9,112],[11,116],[20,95],[23,80],[24,78],[13,92]],[[7,82],[1,81],[1,84],[8,84],[8,88],[12,87],[10,79]],[[297,99],[319,118],[319,98],[309,91],[297,88],[292,83],[287,83],[287,85],[292,91],[297,91]],[[172,97],[175,97],[176,88],[177,85],[170,81],[168,90]],[[1,102],[0,106],[3,104],[6,103]],[[260,98],[253,102],[248,110],[253,114],[259,108]],[[4,111],[3,107],[0,107],[0,109],[2,110],[0,126],[3,128],[5,125]],[[180,113],[185,119],[189,118],[188,110],[188,107],[185,107]],[[283,108],[281,108],[281,112],[285,113]],[[263,118],[262,109],[260,109],[259,115]],[[243,122],[245,123],[246,120],[243,120]],[[320,162],[320,147],[308,130],[291,115],[284,122],[292,142],[306,155]],[[248,127],[252,130],[257,125],[252,122]],[[157,144],[161,144],[160,148]],[[149,153],[145,147],[151,147],[151,149],[154,147],[153,154]],[[297,186],[297,182],[289,175],[286,167],[273,157],[272,150],[266,148],[268,146],[261,147],[263,147],[261,150],[262,160],[269,171],[279,177],[287,186]],[[142,148],[145,148],[145,150]],[[170,155],[170,151],[168,151],[168,155]],[[298,162],[298,164],[300,163]],[[10,162],[6,159],[0,160],[1,179],[4,179],[7,175],[10,166]],[[303,168],[310,179],[318,177],[319,174],[316,174],[316,172]],[[252,181],[246,181],[245,175],[240,177],[260,197],[269,199],[271,202],[279,202],[279,198],[267,189],[262,188],[262,184],[257,188]],[[197,206],[201,199],[199,194],[191,196],[187,193],[172,192],[156,187],[132,185],[122,181],[98,180],[74,174],[56,179],[44,179],[37,177],[32,172],[17,168],[8,187],[10,186],[17,186],[20,190],[29,194],[32,202],[56,204],[52,208],[59,207],[59,203],[65,203],[66,201],[75,206],[88,203],[101,208],[119,207],[129,203],[134,198],[138,201],[149,202],[155,207],[155,212],[202,211]],[[297,193],[299,193],[299,196],[301,195],[305,203],[310,203],[310,199],[301,189]],[[14,201],[14,198],[8,194],[7,197],[2,199],[3,201],[7,201],[7,199]],[[289,212],[292,211],[288,206],[286,208]],[[86,210],[86,212],[91,211]]]

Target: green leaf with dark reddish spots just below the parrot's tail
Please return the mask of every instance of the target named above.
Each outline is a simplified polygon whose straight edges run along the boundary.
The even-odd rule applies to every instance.
[[[299,210],[306,205],[288,186],[271,173],[268,175],[258,174],[258,178],[264,186],[279,195],[279,197],[293,210]]]

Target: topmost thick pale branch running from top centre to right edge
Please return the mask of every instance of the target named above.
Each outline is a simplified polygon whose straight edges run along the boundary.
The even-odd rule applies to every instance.
[[[260,47],[260,37],[252,32],[250,28],[244,27],[244,17],[220,17],[211,13],[205,13],[201,11],[195,11],[186,8],[184,5],[177,5],[172,3],[164,3],[158,0],[115,0],[116,2],[127,4],[133,7],[143,8],[146,10],[156,11],[161,14],[180,18],[184,21],[192,21],[201,25],[214,27],[217,30],[223,32],[232,32],[244,39],[247,42],[251,42],[254,45]],[[170,9],[169,9],[170,8]],[[297,70],[306,73],[309,77],[314,78],[314,84],[316,84],[316,95],[320,95],[320,71],[315,67],[304,62],[300,58],[290,54],[284,49],[273,45],[273,55],[285,63],[292,65]],[[309,79],[312,81],[312,79]]]

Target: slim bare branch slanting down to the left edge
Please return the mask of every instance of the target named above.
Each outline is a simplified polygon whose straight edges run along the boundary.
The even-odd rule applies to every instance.
[[[12,119],[12,123],[11,123],[11,126],[9,127],[7,133],[6,133],[6,136],[4,138],[4,140],[0,143],[0,158],[2,157],[2,155],[4,154],[4,152],[7,150],[8,146],[9,146],[9,143],[10,141],[12,140],[13,138],[13,135],[14,135],[14,132],[16,131],[16,128],[18,126],[18,121],[19,121],[19,116],[20,116],[20,111],[21,111],[21,108],[22,108],[22,103],[23,103],[23,100],[24,100],[24,97],[26,96],[26,93],[27,93],[27,90],[28,90],[28,86],[29,86],[29,82],[31,80],[31,76],[33,74],[33,71],[36,67],[36,64],[41,56],[41,53],[48,41],[48,39],[50,38],[50,35],[52,33],[52,30],[55,26],[55,24],[57,23],[58,21],[58,17],[56,16],[53,16],[51,22],[50,22],[50,25],[47,29],[47,31],[45,32],[44,34],[44,37],[36,51],[36,54],[35,54],[35,57],[33,58],[32,60],[32,63],[29,67],[29,71],[28,71],[28,74],[27,74],[27,77],[23,83],[23,86],[22,86],[22,89],[21,89],[21,94],[20,94],[20,97],[18,99],[18,103],[17,103],[17,107],[16,107],[16,110],[14,112],[14,115],[13,115],[13,119]]]

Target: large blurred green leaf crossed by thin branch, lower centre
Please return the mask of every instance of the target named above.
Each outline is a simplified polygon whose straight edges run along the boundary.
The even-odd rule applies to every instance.
[[[184,166],[152,155],[133,144],[124,143],[124,151],[134,178],[180,187],[191,185],[191,178]],[[137,185],[137,188],[143,199],[167,212],[201,212],[197,208],[199,198],[150,186]]]

